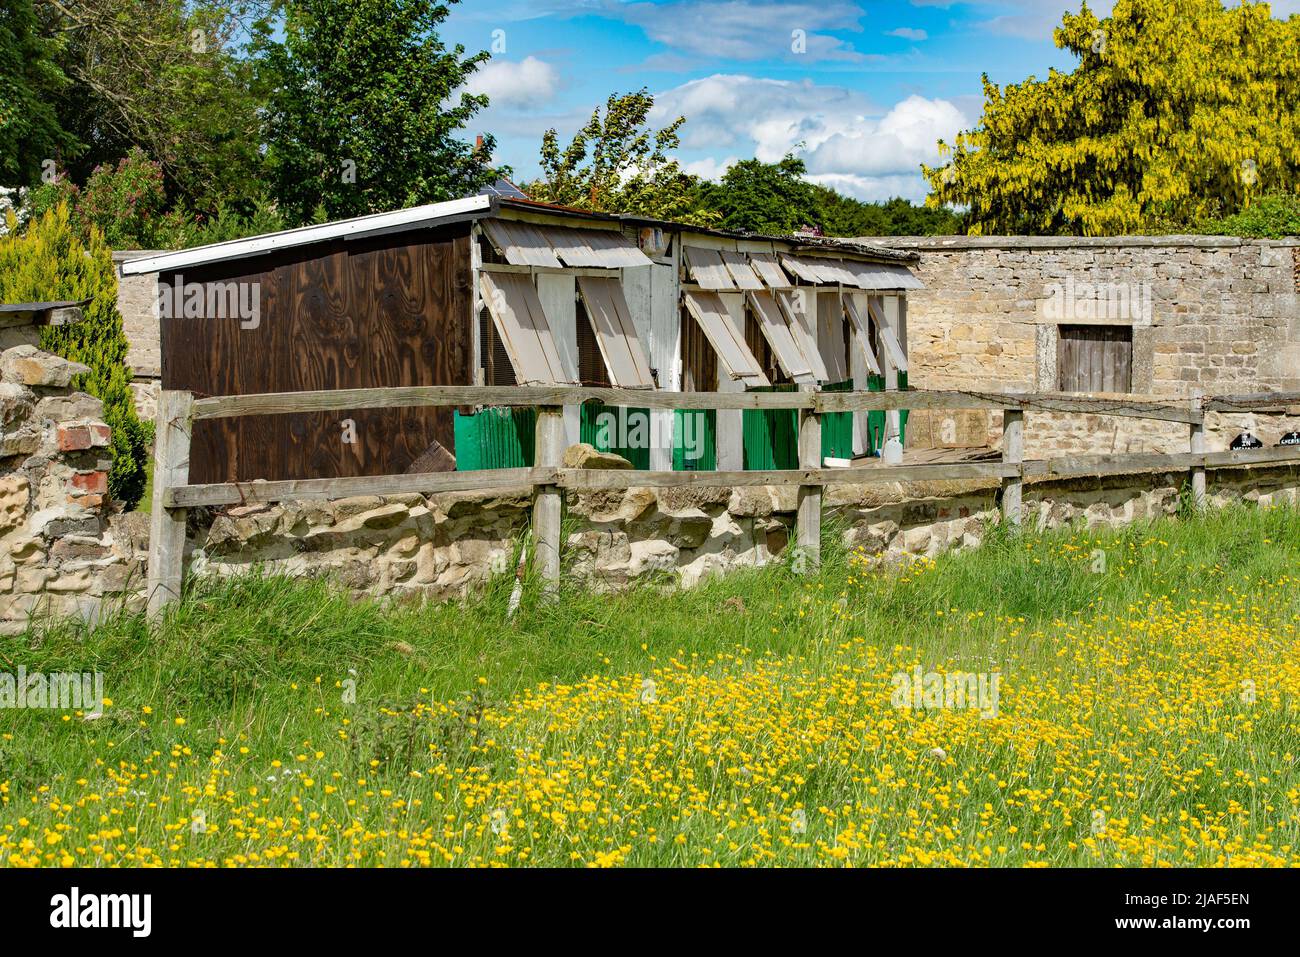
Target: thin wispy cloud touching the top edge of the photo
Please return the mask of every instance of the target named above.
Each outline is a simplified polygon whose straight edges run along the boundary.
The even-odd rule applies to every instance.
[[[862,31],[858,21],[864,10],[848,0],[607,3],[599,13],[640,26],[656,43],[710,60],[871,59],[837,36],[818,33]],[[793,49],[796,30],[802,31],[803,52]]]

